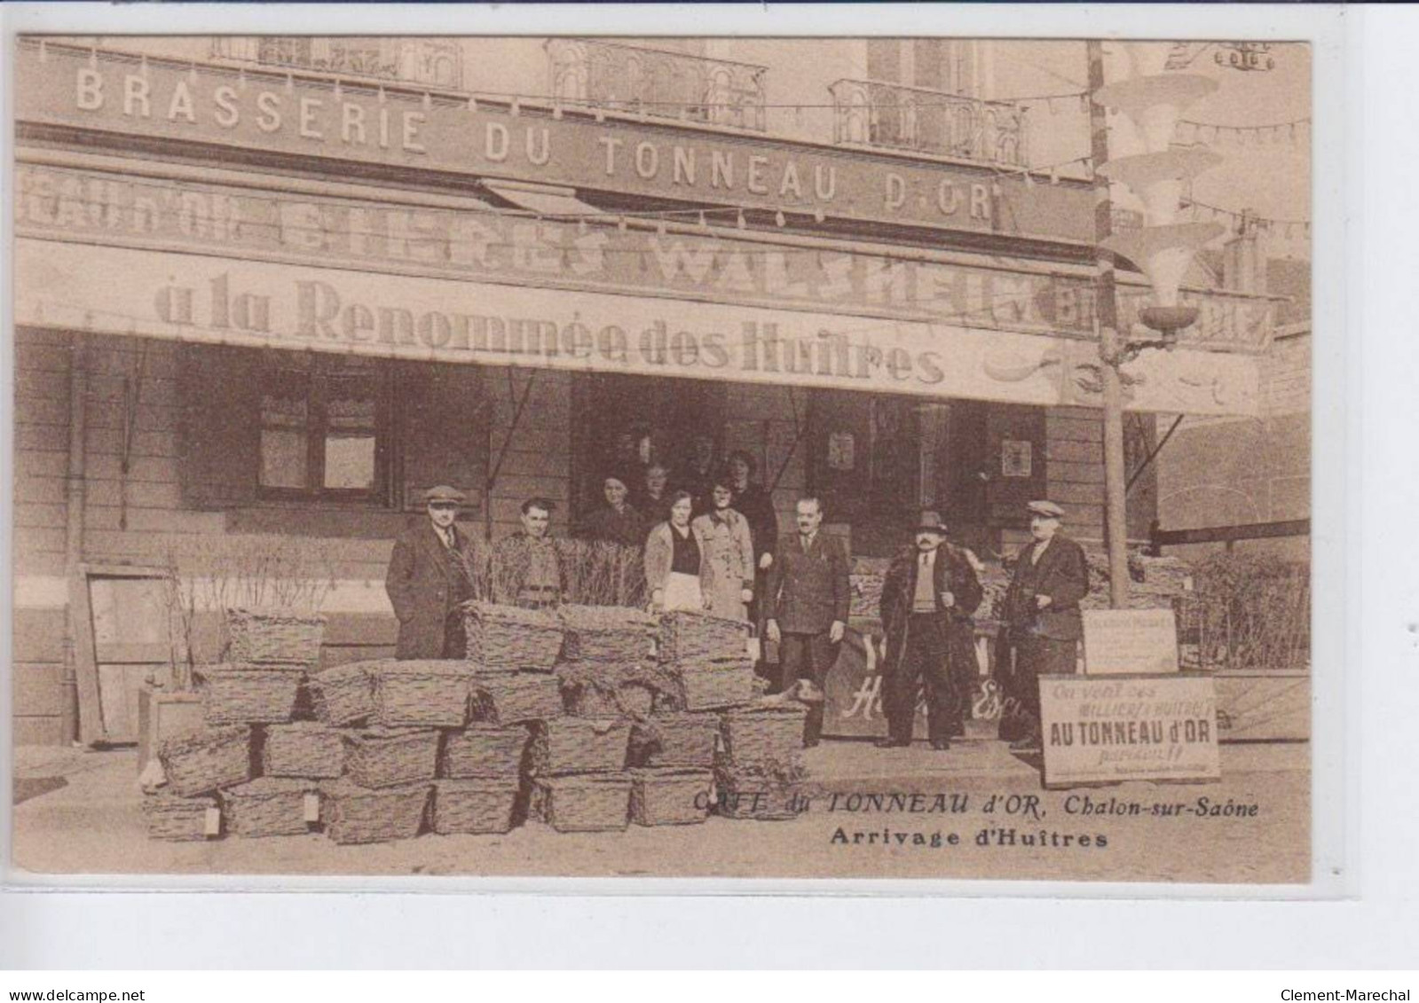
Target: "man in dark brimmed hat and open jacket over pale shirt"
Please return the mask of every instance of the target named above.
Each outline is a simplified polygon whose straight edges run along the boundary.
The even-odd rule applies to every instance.
[[[946,542],[938,512],[917,521],[917,545],[900,553],[883,583],[881,619],[887,634],[883,711],[887,738],[878,748],[911,745],[917,692],[927,685],[931,748],[949,749],[964,731],[965,701],[976,671],[975,627],[981,580],[962,550]]]

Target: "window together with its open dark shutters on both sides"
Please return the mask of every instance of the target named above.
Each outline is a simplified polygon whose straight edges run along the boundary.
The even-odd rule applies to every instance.
[[[409,511],[451,484],[481,509],[488,401],[481,369],[184,345],[179,477],[186,505],[356,502]]]

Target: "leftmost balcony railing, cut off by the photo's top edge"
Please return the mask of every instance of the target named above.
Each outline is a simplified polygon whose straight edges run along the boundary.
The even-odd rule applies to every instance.
[[[221,35],[211,40],[211,54],[219,60],[264,67],[373,77],[450,89],[463,87],[463,50],[450,38]]]

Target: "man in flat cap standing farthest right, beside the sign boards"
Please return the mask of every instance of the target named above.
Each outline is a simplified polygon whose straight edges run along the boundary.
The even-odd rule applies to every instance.
[[[1005,619],[1015,648],[1010,695],[1026,719],[1026,733],[1012,749],[1039,748],[1039,677],[1076,671],[1083,637],[1078,603],[1088,594],[1084,548],[1059,532],[1064,509],[1050,501],[1030,502],[1027,508],[1034,541],[1016,556],[1015,576],[1005,594]]]

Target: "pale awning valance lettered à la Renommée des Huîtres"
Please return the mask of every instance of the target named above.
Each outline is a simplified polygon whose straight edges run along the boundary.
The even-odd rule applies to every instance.
[[[1046,406],[1073,399],[1076,369],[1087,370],[1097,358],[1088,342],[955,325],[28,237],[16,238],[16,321],[30,326]],[[1179,349],[1166,362],[1137,383],[1132,407],[1254,410],[1253,358]],[[993,375],[1022,365],[1025,372],[1010,379]]]

